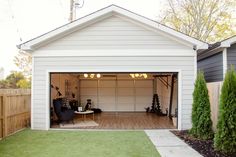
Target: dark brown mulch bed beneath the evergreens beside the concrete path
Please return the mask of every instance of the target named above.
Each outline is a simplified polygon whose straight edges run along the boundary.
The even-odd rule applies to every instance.
[[[198,151],[204,157],[236,157],[236,154],[223,154],[215,151],[213,147],[213,139],[199,140],[188,134],[188,131],[172,131],[176,136]]]

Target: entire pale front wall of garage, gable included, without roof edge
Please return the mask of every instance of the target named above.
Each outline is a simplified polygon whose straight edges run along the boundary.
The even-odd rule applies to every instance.
[[[191,47],[116,16],[49,43],[33,52],[32,127],[49,128],[49,71],[178,71],[181,72],[179,129],[188,129],[196,70],[194,55]]]

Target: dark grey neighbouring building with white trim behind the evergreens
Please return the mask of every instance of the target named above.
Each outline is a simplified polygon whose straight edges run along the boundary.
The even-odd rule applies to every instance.
[[[198,52],[198,70],[204,71],[207,82],[221,82],[231,67],[236,66],[236,36],[217,42]]]

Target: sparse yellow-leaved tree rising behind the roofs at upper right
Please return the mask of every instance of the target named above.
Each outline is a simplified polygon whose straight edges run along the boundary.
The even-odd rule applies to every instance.
[[[215,42],[236,34],[235,0],[168,0],[161,23],[197,39]]]

